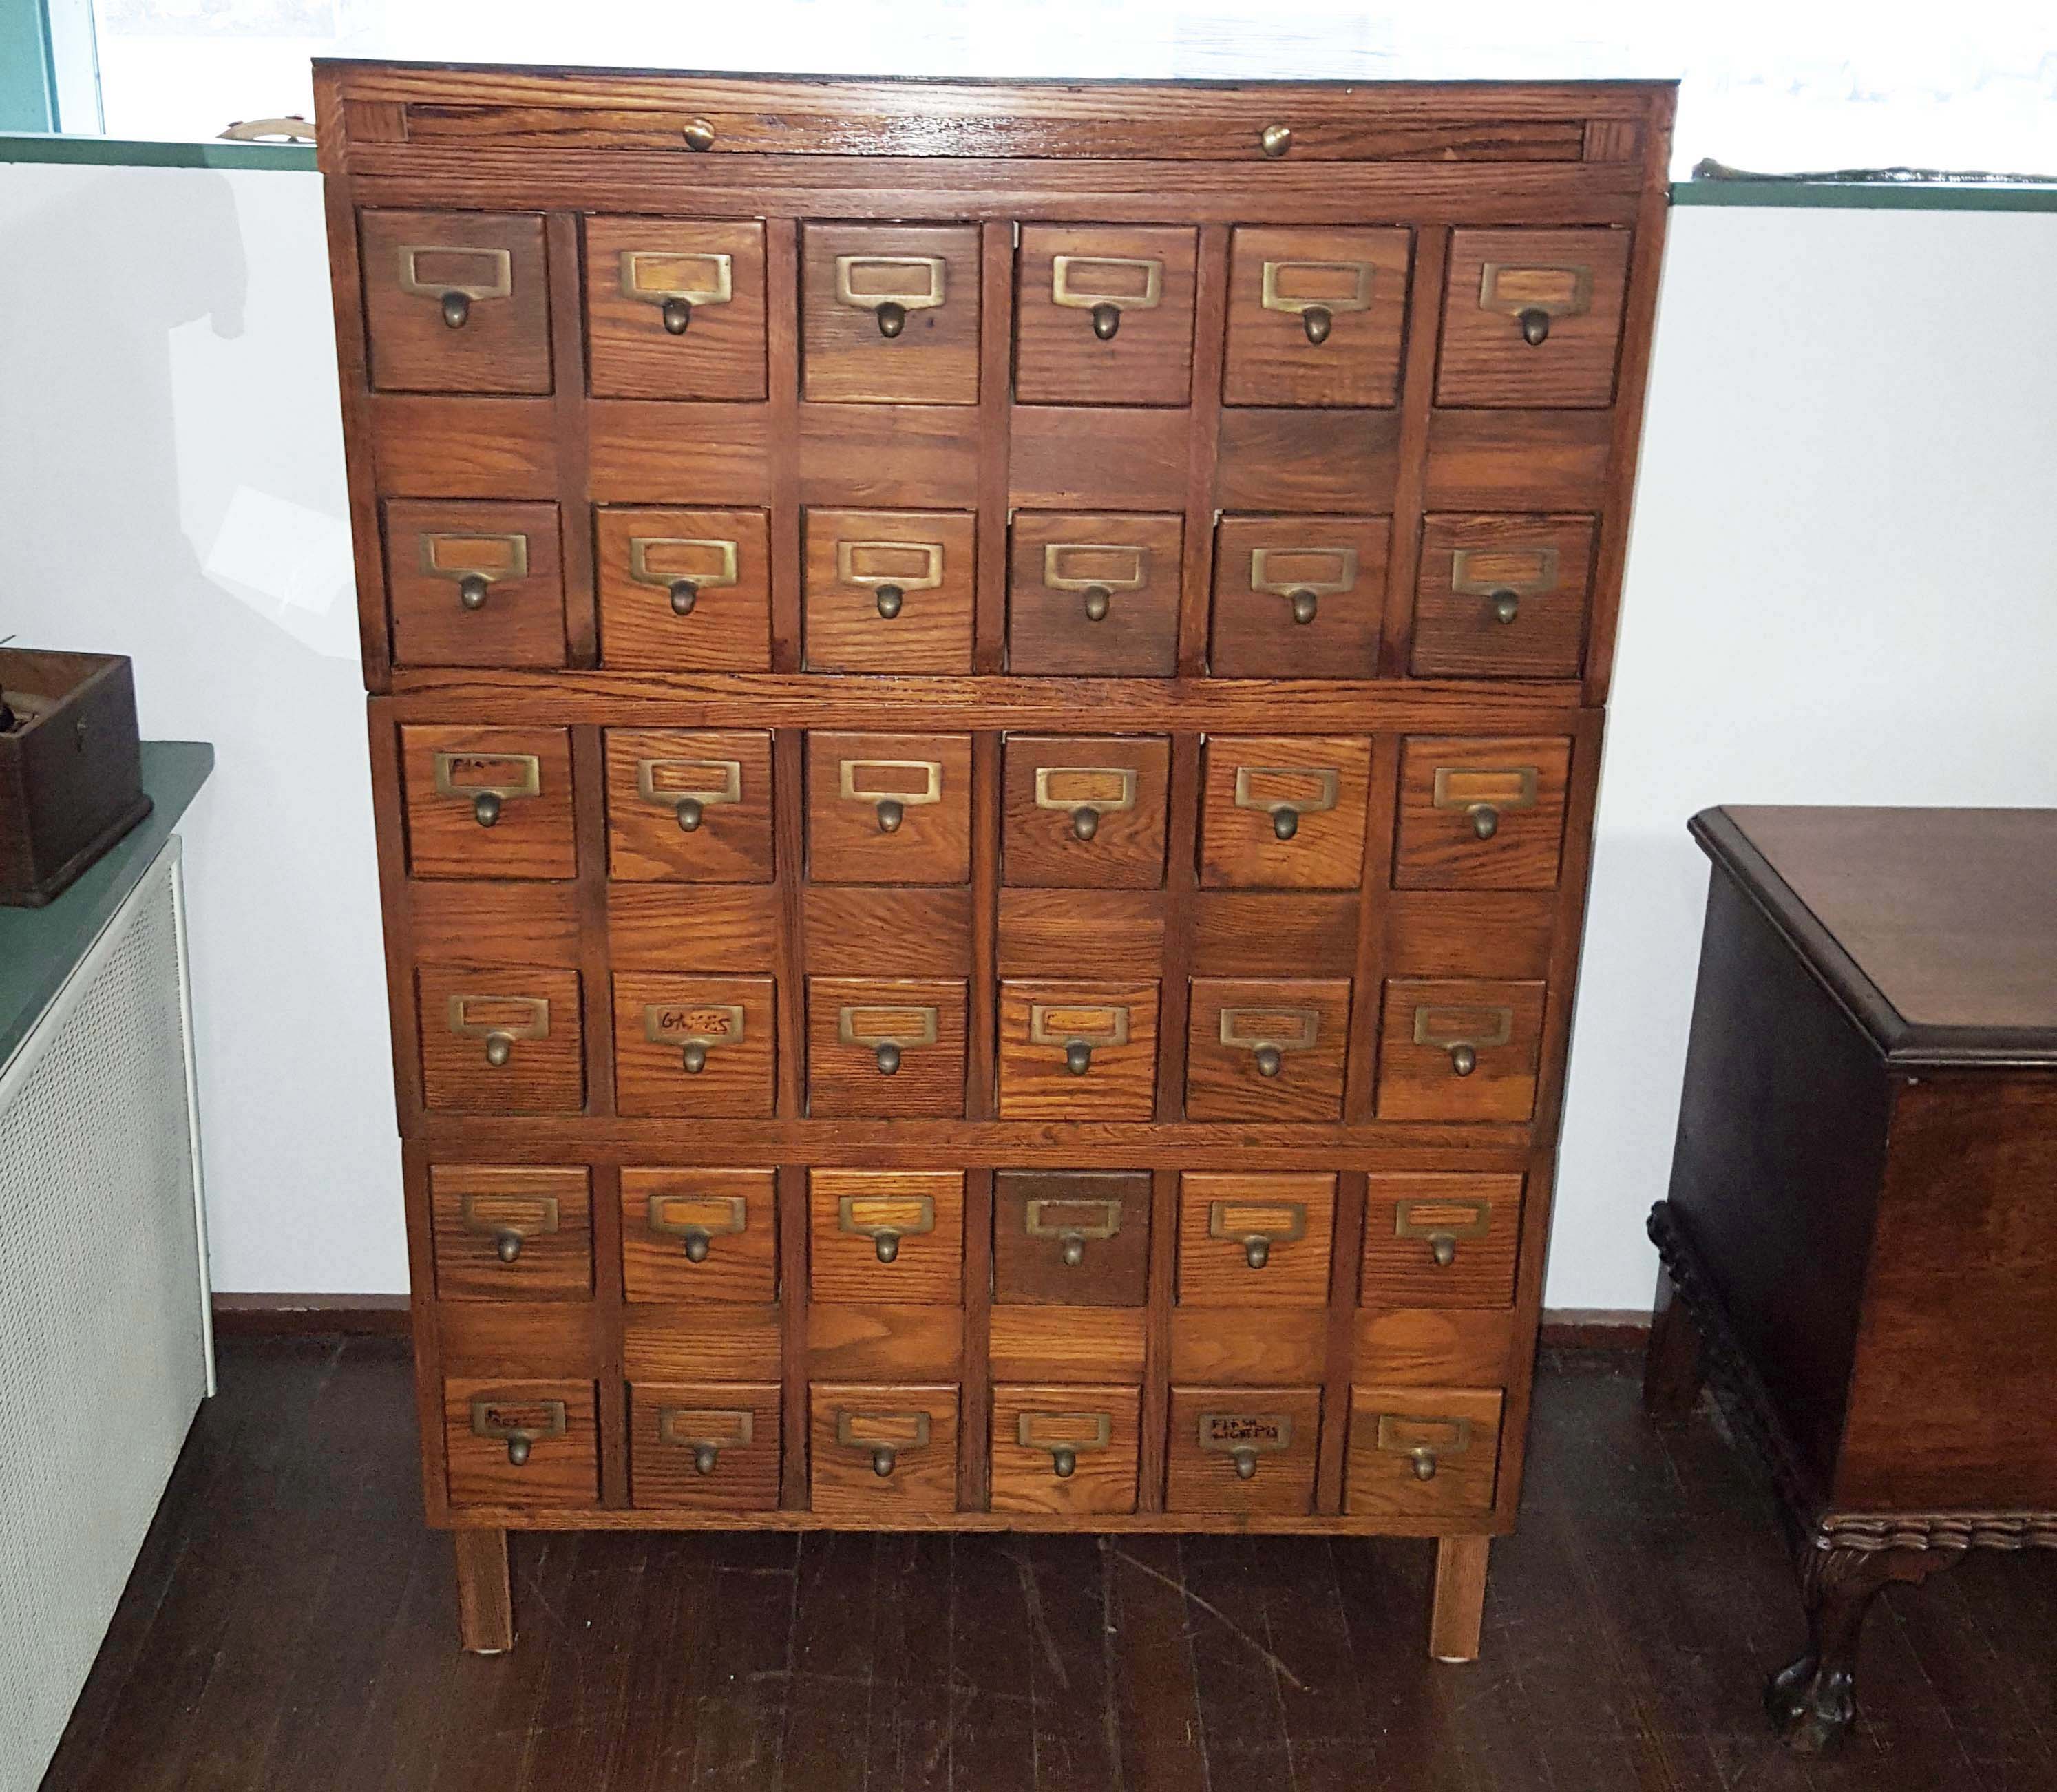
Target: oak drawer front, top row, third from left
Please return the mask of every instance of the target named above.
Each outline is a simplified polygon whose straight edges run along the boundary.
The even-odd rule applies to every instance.
[[[808,224],[802,395],[979,401],[979,232],[971,224]]]

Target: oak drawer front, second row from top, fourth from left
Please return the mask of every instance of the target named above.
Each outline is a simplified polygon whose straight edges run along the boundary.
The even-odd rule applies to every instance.
[[[1170,677],[1185,521],[1022,510],[1008,551],[1008,671]]]

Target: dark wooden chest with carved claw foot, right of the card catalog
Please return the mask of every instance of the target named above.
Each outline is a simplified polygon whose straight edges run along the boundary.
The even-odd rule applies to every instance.
[[[2057,811],[1709,809],[1644,1403],[1767,1457],[1841,1741],[1880,1586],[2057,1547]]]

